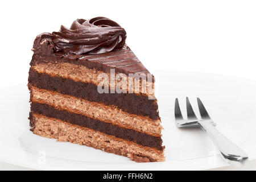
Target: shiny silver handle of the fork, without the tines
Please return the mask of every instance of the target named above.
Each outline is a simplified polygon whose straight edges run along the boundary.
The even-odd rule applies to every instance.
[[[213,143],[220,151],[222,158],[224,158],[226,162],[230,164],[243,164],[246,159],[248,159],[246,153],[222,135],[211,122],[199,121],[198,123],[201,129],[203,129],[209,135],[210,139],[212,139]]]

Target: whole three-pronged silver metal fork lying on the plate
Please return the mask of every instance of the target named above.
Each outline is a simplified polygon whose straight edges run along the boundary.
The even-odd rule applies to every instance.
[[[180,111],[179,101],[176,98],[175,100],[175,121],[177,127],[200,127],[203,129],[212,139],[213,143],[220,152],[222,158],[229,164],[243,164],[248,159],[248,156],[245,152],[238,147],[236,144],[231,142],[228,138],[220,133],[214,126],[216,123],[212,121],[207,110],[205,109],[200,98],[197,98],[197,104],[199,106],[199,111],[201,119],[197,119],[196,114],[194,113],[192,106],[186,98],[187,104],[187,116],[188,119],[183,119],[183,116]]]

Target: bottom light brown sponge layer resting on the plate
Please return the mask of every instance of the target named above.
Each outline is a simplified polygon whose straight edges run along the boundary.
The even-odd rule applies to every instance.
[[[39,114],[33,114],[32,118],[35,122],[34,134],[42,137],[94,147],[102,151],[127,156],[135,162],[164,161],[163,150],[144,147],[134,142]]]

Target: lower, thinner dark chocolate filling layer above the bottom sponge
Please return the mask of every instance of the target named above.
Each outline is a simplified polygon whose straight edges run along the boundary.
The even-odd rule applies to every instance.
[[[133,141],[142,146],[154,147],[158,150],[163,150],[162,139],[152,135],[139,133],[138,131],[125,129],[123,127],[105,123],[97,119],[86,117],[85,115],[69,113],[65,110],[56,109],[47,104],[40,104],[38,102],[31,102],[31,111],[33,113],[42,114],[46,117],[60,119],[61,121],[69,122],[73,125],[88,127],[102,133],[114,135],[115,137]],[[32,119],[30,115],[30,119]],[[31,126],[35,126],[31,123]]]

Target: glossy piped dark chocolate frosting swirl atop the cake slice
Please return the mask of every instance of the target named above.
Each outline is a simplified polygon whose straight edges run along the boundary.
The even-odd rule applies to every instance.
[[[71,54],[104,53],[125,46],[126,31],[118,23],[104,17],[77,19],[70,28],[43,33],[36,37],[33,51],[49,55],[53,52]]]

